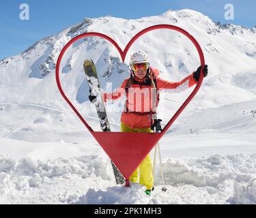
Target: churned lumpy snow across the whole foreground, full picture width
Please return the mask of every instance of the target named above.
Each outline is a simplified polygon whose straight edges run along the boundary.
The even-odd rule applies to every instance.
[[[115,185],[109,159],[87,155],[68,159],[12,159],[0,155],[1,204],[255,204],[256,155],[165,157],[166,192],[159,166],[155,189]]]

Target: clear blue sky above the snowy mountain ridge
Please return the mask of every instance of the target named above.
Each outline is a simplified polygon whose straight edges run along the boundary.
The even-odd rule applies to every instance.
[[[22,3],[29,5],[29,20],[19,18]],[[234,5],[234,20],[224,18],[226,3]],[[0,7],[0,59],[18,55],[43,37],[59,33],[85,17],[141,18],[184,8],[197,10],[222,23],[245,27],[256,25],[255,0],[3,0]]]

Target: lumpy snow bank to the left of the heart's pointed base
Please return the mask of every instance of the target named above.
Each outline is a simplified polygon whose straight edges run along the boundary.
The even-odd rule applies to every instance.
[[[0,155],[0,204],[59,204],[66,195],[114,184],[108,162],[100,155],[45,160]]]

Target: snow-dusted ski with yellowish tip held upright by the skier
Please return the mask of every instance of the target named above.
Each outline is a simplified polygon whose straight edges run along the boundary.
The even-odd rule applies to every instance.
[[[91,59],[85,60],[83,63],[83,68],[85,70],[85,76],[89,85],[89,91],[91,95],[96,96],[96,101],[94,102],[94,105],[96,107],[98,118],[100,121],[100,128],[102,129],[102,131],[111,131],[109,120],[106,116],[106,108],[102,100],[100,82],[98,80],[94,61],[92,61]],[[124,184],[124,176],[122,176],[121,172],[119,172],[113,161],[111,161],[111,165],[115,175],[115,182],[119,185]]]

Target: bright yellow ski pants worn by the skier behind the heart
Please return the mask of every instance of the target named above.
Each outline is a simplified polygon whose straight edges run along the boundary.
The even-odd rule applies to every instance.
[[[151,128],[147,129],[131,129],[124,123],[121,123],[121,131],[126,132],[153,132]],[[147,189],[152,189],[154,184],[154,178],[152,174],[152,162],[150,158],[150,154],[148,154],[145,159],[141,162],[141,165],[137,170],[135,170],[130,176],[130,181],[132,183],[138,183],[138,177],[139,177],[139,183],[141,185],[145,185]]]

